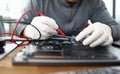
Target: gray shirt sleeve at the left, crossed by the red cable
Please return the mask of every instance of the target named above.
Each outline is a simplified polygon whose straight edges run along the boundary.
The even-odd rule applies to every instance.
[[[42,11],[41,6],[42,6],[42,0],[29,0],[26,7],[22,10],[22,13],[25,13],[26,11],[30,9],[37,9],[37,10]],[[27,24],[19,24],[17,26],[16,33],[20,35],[23,32],[26,25],[29,25],[35,16],[39,16],[38,13],[36,13],[36,11],[31,11],[25,14],[21,22],[24,22]]]

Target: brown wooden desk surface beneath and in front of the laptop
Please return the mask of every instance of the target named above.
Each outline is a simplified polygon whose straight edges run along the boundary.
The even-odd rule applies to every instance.
[[[22,46],[23,47],[23,46]],[[0,74],[48,74],[60,71],[77,71],[95,68],[104,68],[107,66],[15,66],[11,63],[11,58],[22,47],[16,48],[8,56],[0,61]]]

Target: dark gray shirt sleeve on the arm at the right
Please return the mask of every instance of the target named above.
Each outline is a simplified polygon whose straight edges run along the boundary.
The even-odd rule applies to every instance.
[[[113,39],[120,39],[120,25],[111,17],[108,13],[107,8],[102,0],[92,1],[92,8],[90,14],[92,15],[90,20],[94,22],[101,22],[107,24],[112,29]]]

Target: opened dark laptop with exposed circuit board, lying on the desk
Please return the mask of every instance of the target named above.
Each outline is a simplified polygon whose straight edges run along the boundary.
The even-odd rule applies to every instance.
[[[120,58],[115,51],[104,46],[94,48],[83,46],[82,42],[75,40],[75,36],[53,36],[47,40],[31,40],[30,44],[12,58],[12,63],[14,65],[120,64]],[[118,54],[119,52],[117,51]]]

